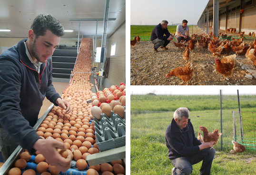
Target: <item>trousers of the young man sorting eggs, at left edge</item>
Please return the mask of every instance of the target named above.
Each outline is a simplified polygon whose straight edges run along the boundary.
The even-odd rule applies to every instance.
[[[18,147],[18,144],[3,128],[0,128],[0,147],[4,162],[10,157],[13,151]]]

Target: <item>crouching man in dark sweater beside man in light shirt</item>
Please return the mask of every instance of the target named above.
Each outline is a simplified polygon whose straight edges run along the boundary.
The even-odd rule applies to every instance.
[[[167,24],[168,24],[167,20],[162,20],[162,22],[159,23],[152,30],[150,40],[154,44],[153,46],[154,52],[158,52],[158,47],[167,50],[168,48],[166,46],[173,39],[167,29]]]

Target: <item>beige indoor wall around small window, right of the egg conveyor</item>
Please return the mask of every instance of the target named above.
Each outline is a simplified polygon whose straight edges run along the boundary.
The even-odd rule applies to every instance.
[[[117,41],[116,57],[110,57],[108,78],[104,80],[104,86],[120,86],[125,83],[125,25],[121,26],[116,33],[108,38],[107,57],[110,57],[111,45]]]

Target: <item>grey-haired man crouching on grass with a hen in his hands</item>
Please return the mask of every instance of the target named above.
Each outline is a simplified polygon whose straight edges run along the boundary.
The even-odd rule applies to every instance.
[[[199,175],[210,175],[215,150],[212,142],[201,143],[197,140],[187,108],[178,108],[172,122],[165,131],[168,158],[174,168],[172,175],[190,175],[192,165],[203,160]]]

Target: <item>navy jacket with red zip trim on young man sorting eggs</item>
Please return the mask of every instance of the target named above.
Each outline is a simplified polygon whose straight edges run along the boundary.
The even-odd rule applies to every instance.
[[[38,120],[45,96],[59,98],[52,82],[51,60],[41,64],[40,74],[26,55],[22,39],[0,55],[0,127],[30,154],[39,139],[32,127]]]

